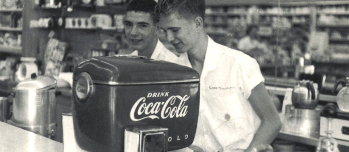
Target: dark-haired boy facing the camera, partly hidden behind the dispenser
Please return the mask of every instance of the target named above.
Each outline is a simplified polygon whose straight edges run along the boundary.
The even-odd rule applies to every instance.
[[[132,0],[128,4],[124,26],[129,45],[135,50],[131,54],[190,66],[186,54],[177,57],[159,41],[158,20],[154,16],[155,6],[154,0]]]

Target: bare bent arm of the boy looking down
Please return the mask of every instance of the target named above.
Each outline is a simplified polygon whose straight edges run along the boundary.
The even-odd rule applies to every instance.
[[[252,89],[248,100],[261,124],[245,152],[251,152],[253,146],[272,143],[281,129],[280,117],[263,83]]]

